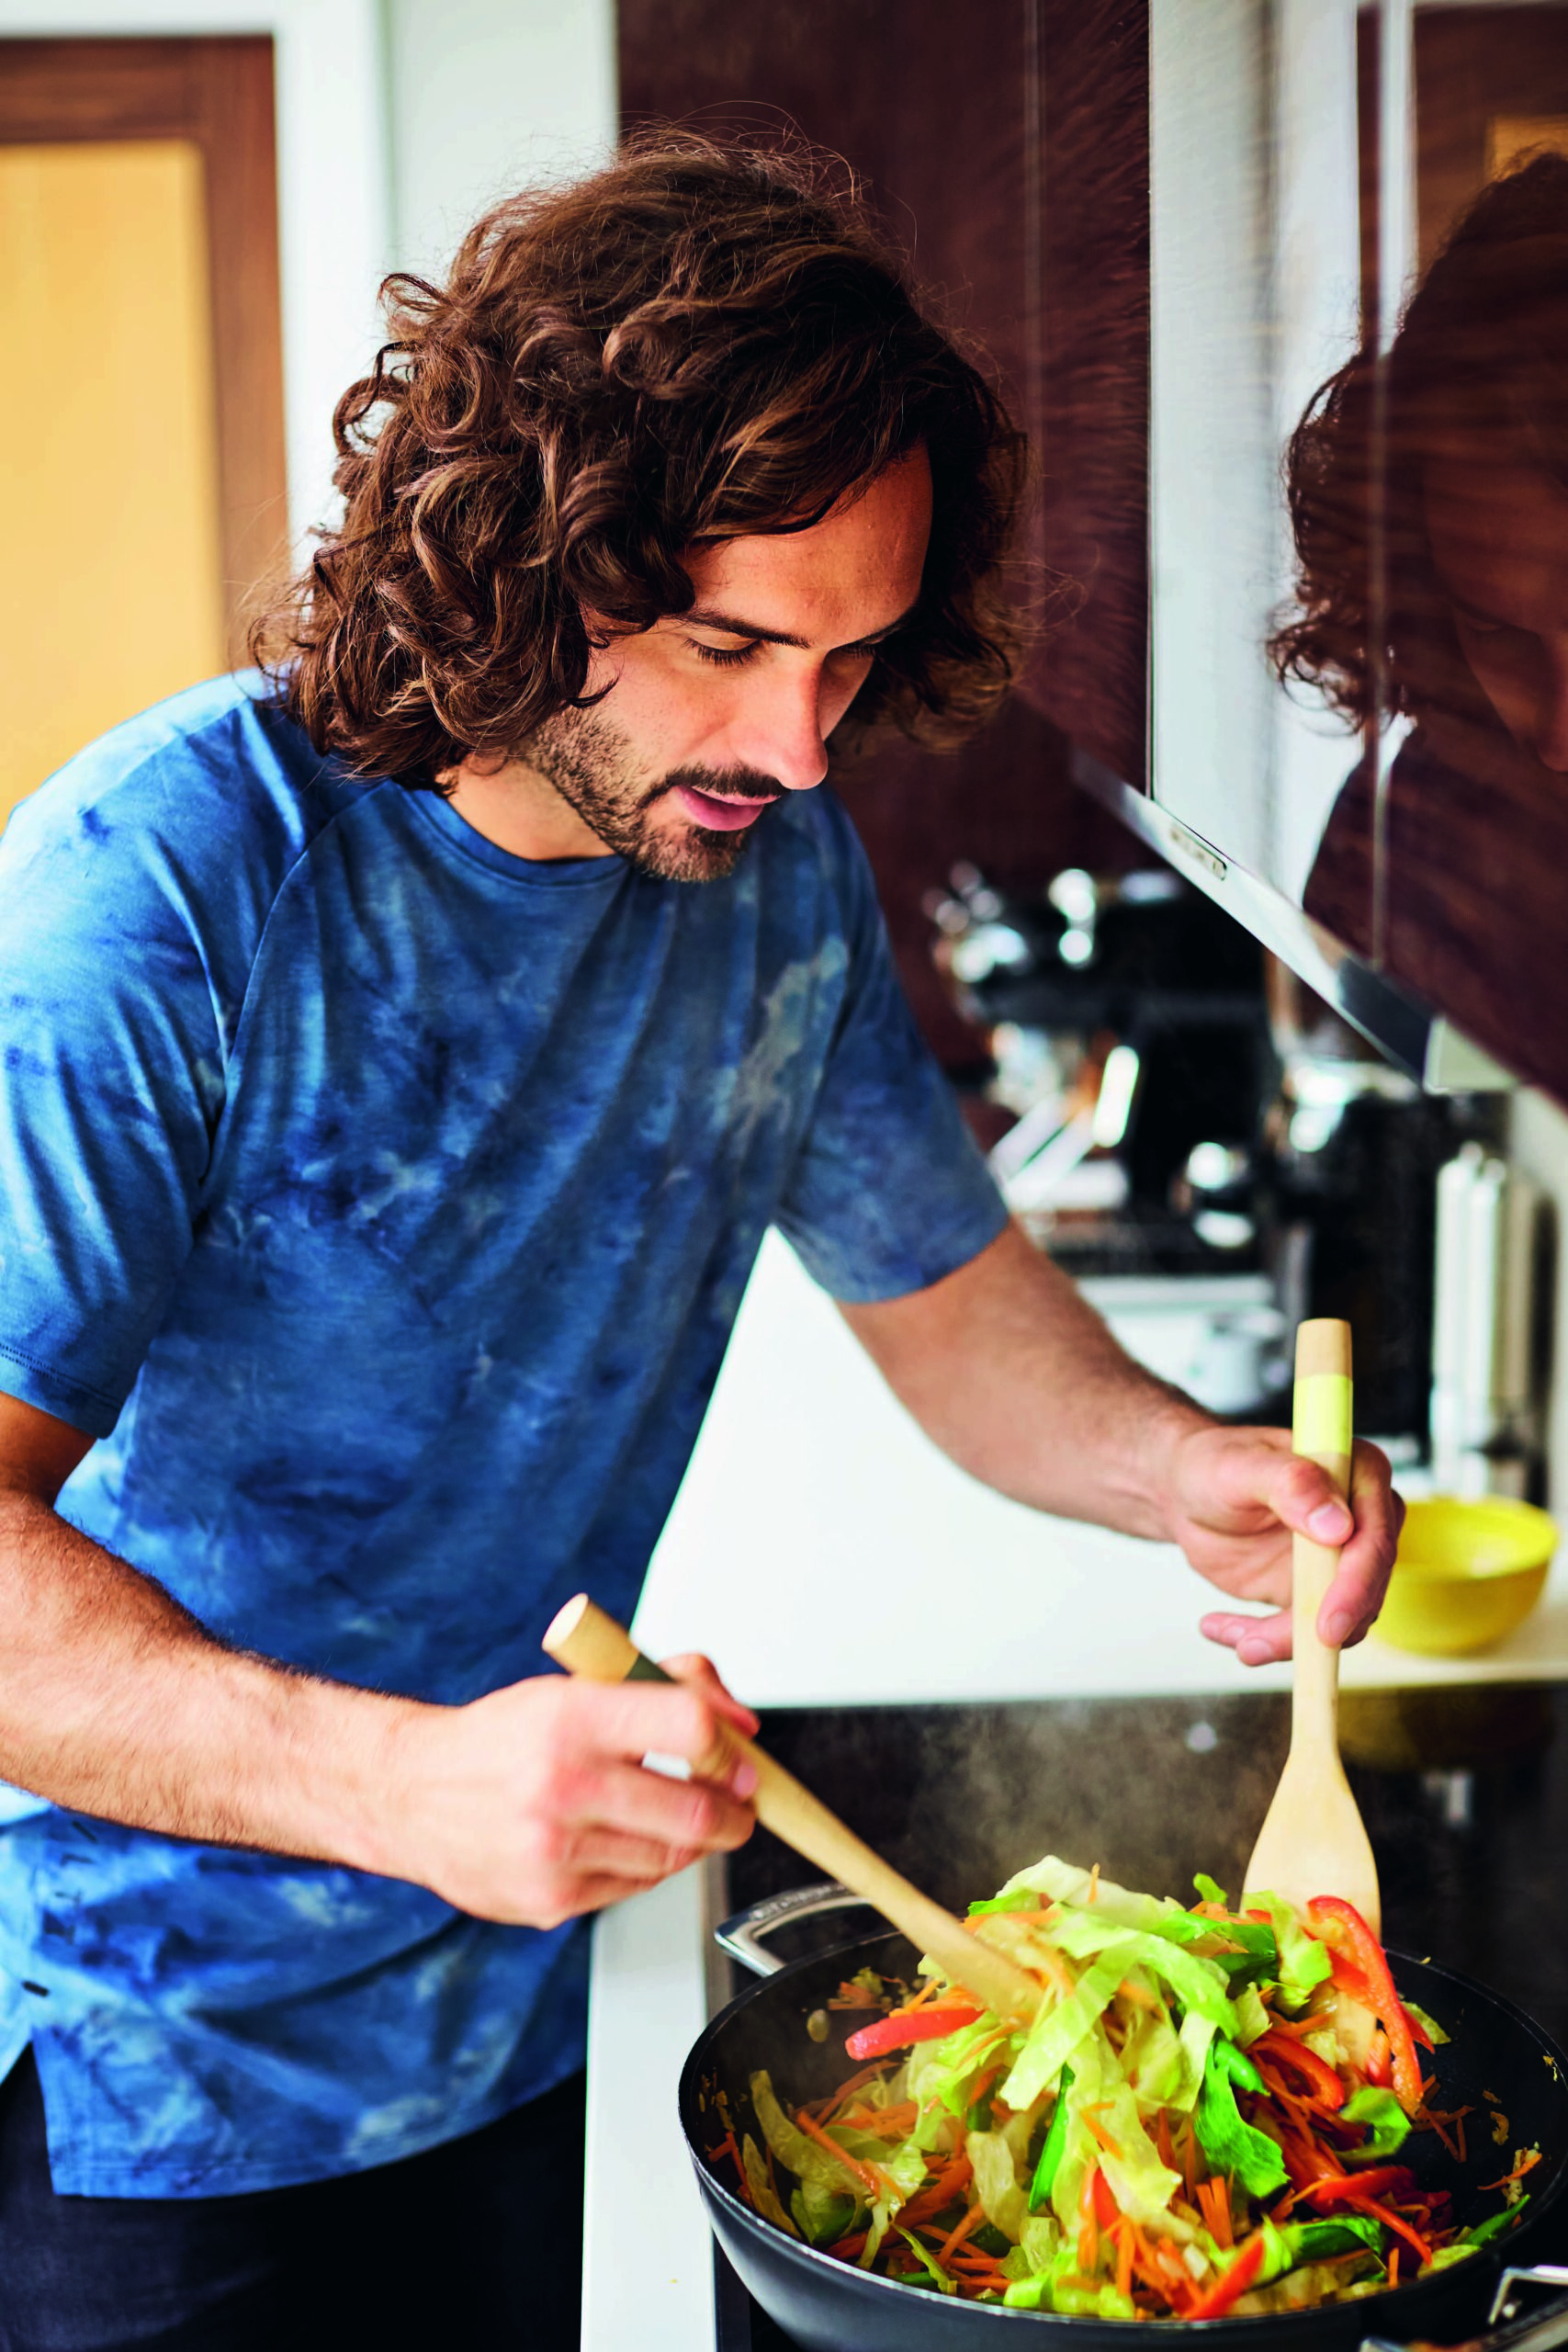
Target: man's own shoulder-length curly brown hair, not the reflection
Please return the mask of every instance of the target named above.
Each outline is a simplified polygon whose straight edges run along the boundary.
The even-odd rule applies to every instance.
[[[922,445],[922,600],[853,727],[992,715],[1025,440],[832,160],[644,136],[498,205],[444,285],[381,292],[390,341],[334,416],[343,520],[252,630],[317,750],[425,788],[517,750],[590,701],[585,614],[686,612],[686,550],[809,529]]]

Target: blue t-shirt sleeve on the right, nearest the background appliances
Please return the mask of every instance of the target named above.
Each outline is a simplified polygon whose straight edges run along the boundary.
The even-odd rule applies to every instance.
[[[776,1214],[832,1298],[922,1291],[997,1240],[1001,1195],[893,969],[865,851],[818,797],[844,915],[846,995],[811,1127]]]

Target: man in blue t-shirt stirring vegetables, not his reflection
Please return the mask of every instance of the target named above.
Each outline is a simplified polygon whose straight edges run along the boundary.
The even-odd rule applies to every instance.
[[[994,708],[1023,459],[856,202],[654,143],[390,320],[270,668],[0,854],[14,2352],[574,2340],[585,1915],[748,1835],[642,1759],[752,1717],[538,1637],[771,1223],[1009,1494],[1239,1599],[1345,1543],[1335,1642],[1392,1555],[1119,1355],[900,1000],[827,739]]]

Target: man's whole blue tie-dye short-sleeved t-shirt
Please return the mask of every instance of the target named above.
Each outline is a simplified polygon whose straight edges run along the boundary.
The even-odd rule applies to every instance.
[[[1001,1228],[825,790],[726,882],[538,866],[221,680],[14,814],[0,1004],[0,1388],[99,1439],[63,1515],[381,1691],[541,1672],[578,1588],[630,1616],[769,1223],[849,1301]],[[0,1790],[59,2190],[409,2154],[578,2067],[583,2009],[581,1924]]]

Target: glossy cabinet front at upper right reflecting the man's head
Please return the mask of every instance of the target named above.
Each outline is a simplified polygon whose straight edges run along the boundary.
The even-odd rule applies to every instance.
[[[1152,5],[1152,788],[1568,1094],[1568,7]]]

